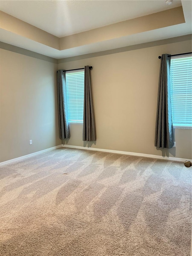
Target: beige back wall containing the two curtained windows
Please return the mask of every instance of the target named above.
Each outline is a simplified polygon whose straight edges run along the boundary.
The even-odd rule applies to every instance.
[[[59,64],[58,69],[93,66],[97,141],[89,146],[191,159],[192,130],[176,129],[176,147],[170,150],[154,146],[158,56],[183,52],[191,52],[191,40]],[[63,143],[86,145],[82,125],[70,125],[70,133]]]

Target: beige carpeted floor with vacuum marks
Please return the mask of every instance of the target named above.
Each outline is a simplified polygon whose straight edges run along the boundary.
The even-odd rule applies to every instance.
[[[0,255],[190,255],[183,163],[63,148],[0,178]]]

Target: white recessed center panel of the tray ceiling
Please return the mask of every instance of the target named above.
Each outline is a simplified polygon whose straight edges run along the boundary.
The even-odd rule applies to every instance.
[[[174,0],[1,0],[0,10],[57,37],[181,6]]]

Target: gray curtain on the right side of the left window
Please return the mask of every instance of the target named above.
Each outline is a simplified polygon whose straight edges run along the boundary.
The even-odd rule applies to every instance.
[[[89,66],[85,66],[84,81],[84,110],[83,110],[83,140],[95,141],[95,116],[93,109],[93,96],[91,89],[91,71]]]

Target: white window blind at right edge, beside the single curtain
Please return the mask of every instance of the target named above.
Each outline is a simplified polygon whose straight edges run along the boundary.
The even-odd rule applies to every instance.
[[[192,57],[171,58],[171,104],[173,126],[192,126]]]

